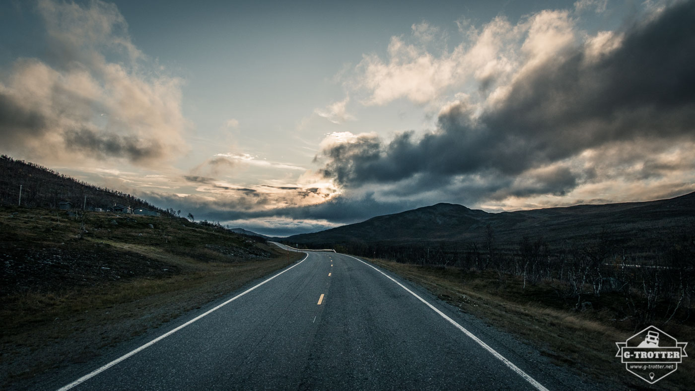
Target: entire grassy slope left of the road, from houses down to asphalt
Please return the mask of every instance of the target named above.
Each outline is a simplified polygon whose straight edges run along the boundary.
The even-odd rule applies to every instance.
[[[186,219],[0,206],[0,388],[35,388],[303,255]]]

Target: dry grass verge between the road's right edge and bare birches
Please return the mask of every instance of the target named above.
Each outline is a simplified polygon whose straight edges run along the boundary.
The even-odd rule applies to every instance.
[[[653,386],[627,372],[619,358],[614,357],[615,342],[630,338],[635,333],[634,328],[612,319],[605,309],[584,312],[563,309],[551,283],[527,285],[523,289],[517,278],[507,276],[500,281],[496,273],[420,267],[379,259],[370,261],[423,285],[461,310],[523,338],[555,363],[589,374],[599,384],[620,383],[637,390],[692,388],[690,374],[695,371],[692,358],[685,358],[678,371]],[[695,338],[692,326],[655,326],[681,342]]]

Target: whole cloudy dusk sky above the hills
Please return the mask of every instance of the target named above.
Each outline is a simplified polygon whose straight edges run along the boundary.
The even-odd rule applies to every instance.
[[[269,235],[695,191],[695,1],[2,1],[0,152]]]

